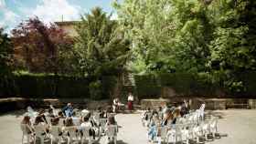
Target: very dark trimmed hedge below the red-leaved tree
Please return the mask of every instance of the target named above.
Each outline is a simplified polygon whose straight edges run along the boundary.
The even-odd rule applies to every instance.
[[[3,96],[23,98],[88,98],[90,80],[53,75],[15,75],[12,88],[1,89]],[[4,91],[4,92],[3,92]]]

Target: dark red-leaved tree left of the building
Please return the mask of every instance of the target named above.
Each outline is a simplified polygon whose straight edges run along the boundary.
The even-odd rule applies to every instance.
[[[16,68],[55,74],[69,69],[65,52],[72,48],[73,41],[58,26],[46,25],[36,17],[21,23],[11,33]]]

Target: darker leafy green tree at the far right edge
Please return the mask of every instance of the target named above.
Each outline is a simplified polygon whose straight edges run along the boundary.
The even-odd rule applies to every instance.
[[[246,90],[240,75],[256,68],[255,1],[214,1],[209,8],[215,25],[210,44],[208,66],[212,73],[222,73],[224,86],[233,91]]]

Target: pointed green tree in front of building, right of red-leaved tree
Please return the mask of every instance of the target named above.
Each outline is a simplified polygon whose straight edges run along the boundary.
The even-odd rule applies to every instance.
[[[130,56],[130,42],[124,38],[117,22],[111,20],[111,15],[99,7],[93,8],[91,14],[82,15],[77,31],[79,36],[76,38],[74,52],[78,59],[78,69],[80,75],[94,79],[91,89],[95,89],[94,86],[100,87],[104,76],[115,76],[121,80]]]

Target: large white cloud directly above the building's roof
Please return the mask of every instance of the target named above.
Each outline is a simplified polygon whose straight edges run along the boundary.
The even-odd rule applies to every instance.
[[[41,0],[36,8],[23,9],[29,17],[38,16],[42,21],[49,23],[75,20],[80,17],[80,6],[70,5],[68,0]]]

